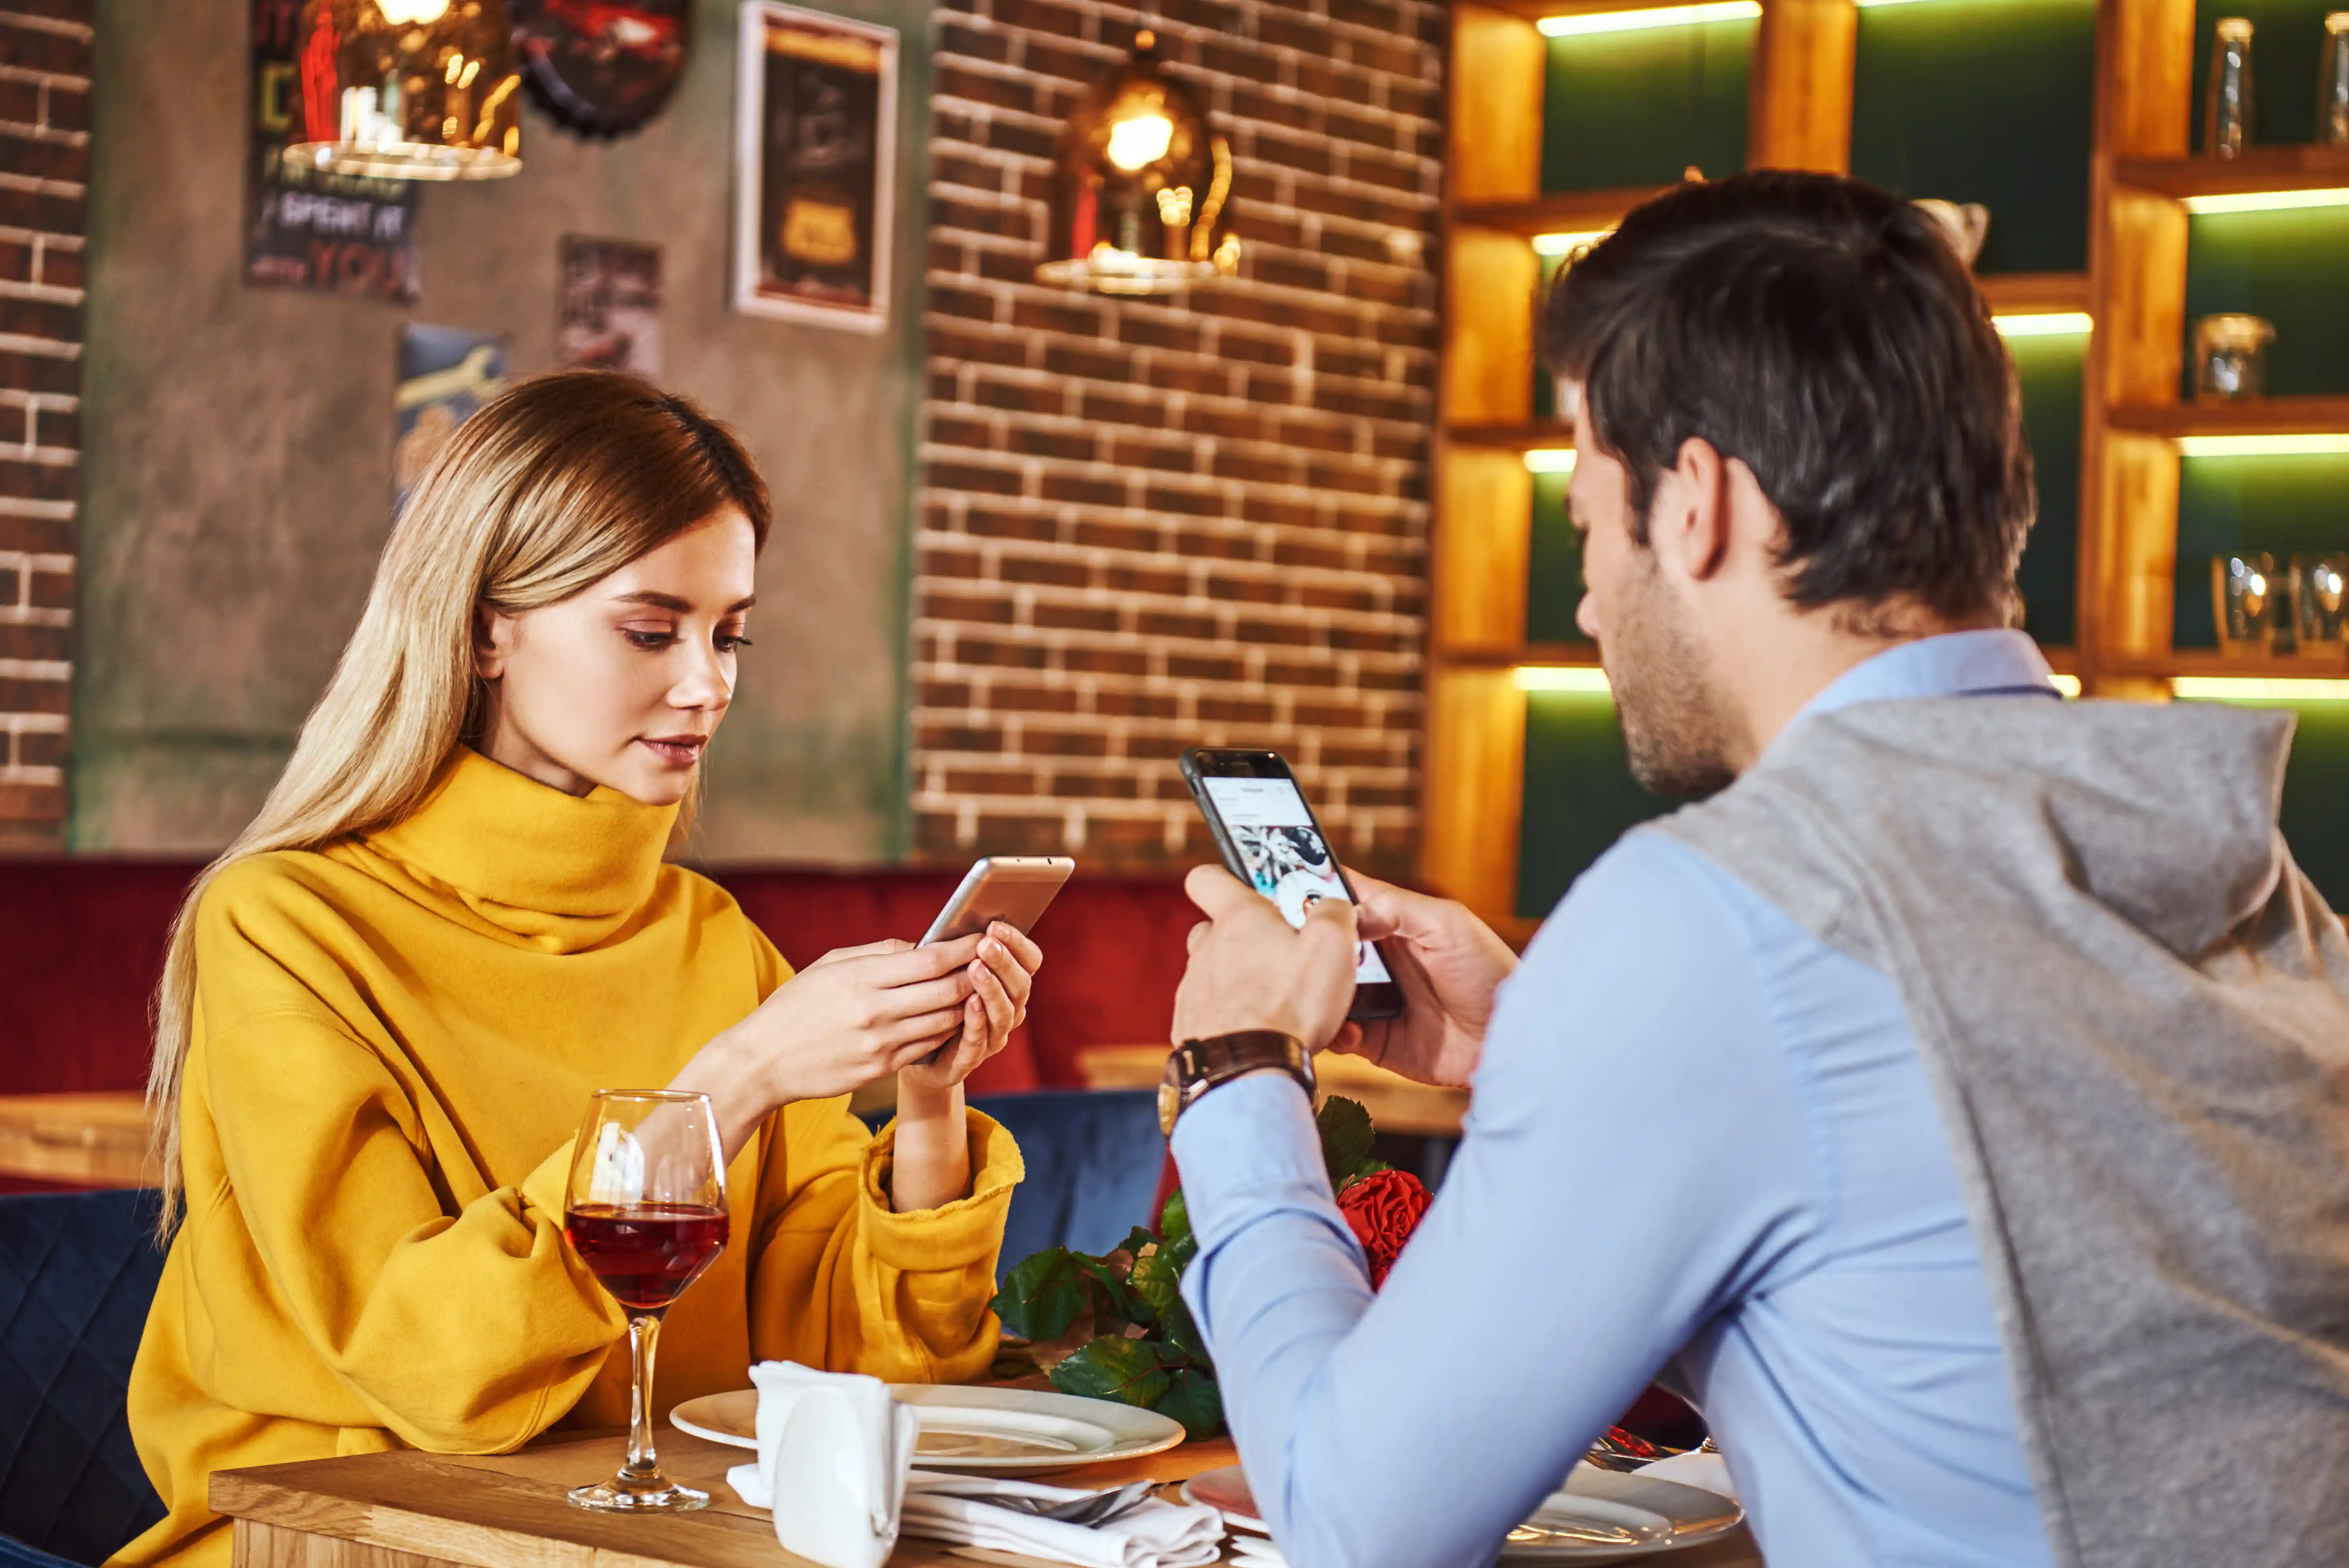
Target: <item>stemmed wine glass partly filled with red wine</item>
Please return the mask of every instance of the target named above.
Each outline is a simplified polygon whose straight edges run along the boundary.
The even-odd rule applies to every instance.
[[[564,1234],[627,1312],[627,1465],[571,1505],[620,1514],[709,1507],[653,1458],[653,1342],[669,1309],[726,1251],[726,1157],[709,1095],[599,1088],[571,1150]]]

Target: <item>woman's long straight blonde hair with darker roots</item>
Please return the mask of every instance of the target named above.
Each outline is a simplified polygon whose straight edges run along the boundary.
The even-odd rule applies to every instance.
[[[634,376],[540,376],[449,437],[383,545],[359,630],[277,788],[171,922],[148,1074],[160,1234],[181,1197],[179,1098],[204,889],[249,856],[324,849],[416,811],[456,748],[479,738],[486,689],[474,625],[484,607],[519,614],[568,599],[721,508],[749,517],[766,545],[766,484],[742,442]]]

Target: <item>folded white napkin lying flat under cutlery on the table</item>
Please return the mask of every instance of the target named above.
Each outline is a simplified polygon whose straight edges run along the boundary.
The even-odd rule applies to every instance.
[[[1221,1556],[1224,1519],[1210,1507],[1151,1497],[1109,1523],[1015,1514],[989,1497],[1071,1502],[1085,1490],[991,1476],[921,1472],[907,1481],[902,1528],[956,1547],[1017,1552],[1081,1568],[1203,1568]]]

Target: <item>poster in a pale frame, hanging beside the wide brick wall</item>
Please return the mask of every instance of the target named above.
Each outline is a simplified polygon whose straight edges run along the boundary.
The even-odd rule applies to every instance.
[[[888,327],[895,167],[895,28],[749,0],[735,89],[735,310]]]

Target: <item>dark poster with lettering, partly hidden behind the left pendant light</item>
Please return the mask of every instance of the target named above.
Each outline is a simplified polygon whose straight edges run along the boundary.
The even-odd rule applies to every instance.
[[[301,0],[254,0],[254,118],[244,167],[244,282],[413,301],[418,188],[284,167]]]

